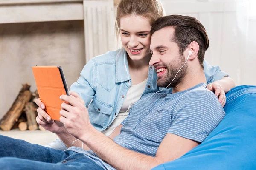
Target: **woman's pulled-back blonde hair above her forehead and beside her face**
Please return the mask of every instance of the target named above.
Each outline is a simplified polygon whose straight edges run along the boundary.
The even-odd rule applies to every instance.
[[[147,18],[152,26],[157,18],[163,17],[164,10],[160,0],[121,0],[116,10],[117,39],[120,35],[120,19],[131,14]]]

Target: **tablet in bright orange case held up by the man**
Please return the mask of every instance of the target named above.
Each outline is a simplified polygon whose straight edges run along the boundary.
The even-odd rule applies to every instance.
[[[34,66],[32,67],[39,98],[45,105],[46,111],[53,120],[60,120],[62,94],[68,94],[67,83],[61,67]]]

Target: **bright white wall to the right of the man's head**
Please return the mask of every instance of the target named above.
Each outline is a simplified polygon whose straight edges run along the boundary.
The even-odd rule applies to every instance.
[[[167,15],[192,16],[205,26],[211,65],[219,65],[236,85],[256,85],[256,0],[161,1]]]

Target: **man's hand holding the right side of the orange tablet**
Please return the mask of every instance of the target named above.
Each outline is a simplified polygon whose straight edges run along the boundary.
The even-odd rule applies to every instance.
[[[92,133],[93,126],[90,124],[84,100],[74,91],[69,91],[69,93],[70,96],[60,96],[60,99],[64,101],[61,104],[60,121],[72,136],[80,139],[81,136]]]

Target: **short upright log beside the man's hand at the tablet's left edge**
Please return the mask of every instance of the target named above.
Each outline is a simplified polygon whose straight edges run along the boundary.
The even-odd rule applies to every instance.
[[[27,124],[28,124],[29,130],[38,129],[38,123],[36,122],[35,111],[36,111],[36,108],[33,102],[26,103],[25,112],[26,112],[26,118],[27,118]]]

